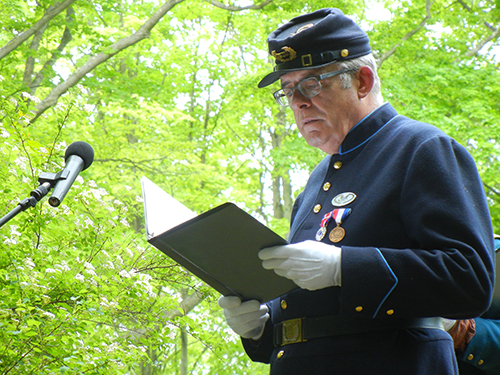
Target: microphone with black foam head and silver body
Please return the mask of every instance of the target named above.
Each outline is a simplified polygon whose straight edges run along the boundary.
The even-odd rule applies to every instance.
[[[57,183],[49,198],[49,204],[57,207],[61,204],[78,174],[90,167],[94,161],[94,149],[85,142],[78,141],[69,145],[64,154],[66,166],[57,175]]]

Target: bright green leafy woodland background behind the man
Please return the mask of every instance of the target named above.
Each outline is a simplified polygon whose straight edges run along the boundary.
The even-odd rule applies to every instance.
[[[474,156],[500,233],[498,2],[0,3],[0,212],[67,146],[95,150],[57,209],[0,229],[0,374],[259,374],[218,296],[148,246],[139,180],[189,208],[237,203],[283,236],[323,157],[257,90],[265,38],[338,7],[371,38],[384,98]],[[473,223],[471,223],[473,225]]]

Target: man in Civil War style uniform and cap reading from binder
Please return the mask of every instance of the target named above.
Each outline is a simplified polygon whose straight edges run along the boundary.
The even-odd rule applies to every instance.
[[[456,374],[441,319],[491,298],[493,233],[474,161],[383,103],[367,35],[338,9],[271,33],[259,83],[328,154],[295,202],[289,245],[263,267],[300,288],[267,305],[222,297],[229,326],[271,374]],[[418,62],[416,62],[418,63]]]

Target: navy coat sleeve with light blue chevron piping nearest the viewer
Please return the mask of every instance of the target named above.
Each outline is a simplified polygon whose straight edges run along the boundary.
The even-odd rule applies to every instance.
[[[398,199],[415,246],[343,246],[342,314],[479,316],[492,294],[493,232],[470,154],[451,138],[423,142],[407,165]]]

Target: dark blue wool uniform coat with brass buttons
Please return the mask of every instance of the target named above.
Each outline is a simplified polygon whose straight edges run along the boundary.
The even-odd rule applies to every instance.
[[[384,104],[313,171],[294,206],[290,242],[314,240],[321,219],[335,208],[332,199],[345,192],[357,198],[345,206],[352,213],[336,244],[342,286],[297,289],[271,301],[262,338],[243,340],[247,354],[271,363],[273,375],[456,374],[451,338],[440,329],[273,346],[273,325],[293,318],[459,319],[488,307],[493,233],[474,161],[461,145]],[[330,220],[328,232],[335,226]],[[328,234],[322,241],[333,244]]]

